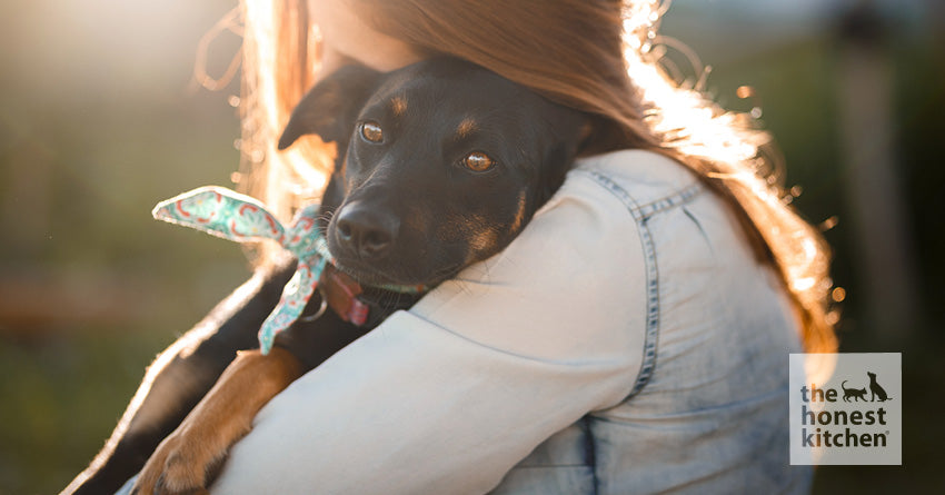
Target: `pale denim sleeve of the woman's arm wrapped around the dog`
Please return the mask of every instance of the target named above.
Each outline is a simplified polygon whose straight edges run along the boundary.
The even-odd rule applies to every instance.
[[[500,255],[277,396],[215,494],[483,493],[639,373],[643,249],[584,174]]]

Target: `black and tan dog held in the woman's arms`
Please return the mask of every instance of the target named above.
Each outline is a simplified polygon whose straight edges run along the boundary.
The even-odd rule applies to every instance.
[[[364,286],[367,321],[329,310],[280,334],[268,356],[247,350],[291,269],[258,275],[157,359],[66,493],[115,492],[142,466],[140,494],[201,492],[262,405],[416,299],[376,287],[435,286],[507,246],[560,186],[587,128],[584,115],[455,59],[327,77],[279,147],[305,135],[338,143],[321,227],[336,259],[329,274]]]

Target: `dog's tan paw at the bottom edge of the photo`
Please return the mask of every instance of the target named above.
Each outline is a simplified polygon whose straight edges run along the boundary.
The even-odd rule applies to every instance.
[[[167,437],[138,474],[132,495],[207,494],[208,473],[217,456],[177,432]]]

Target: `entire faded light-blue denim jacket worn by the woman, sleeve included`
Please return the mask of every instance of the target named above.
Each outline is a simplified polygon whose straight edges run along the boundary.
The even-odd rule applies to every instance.
[[[798,323],[683,166],[580,160],[504,253],[277,396],[230,493],[799,493]]]

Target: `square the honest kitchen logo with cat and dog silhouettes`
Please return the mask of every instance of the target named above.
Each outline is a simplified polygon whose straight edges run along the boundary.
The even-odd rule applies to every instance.
[[[792,354],[790,464],[902,464],[902,354]]]

